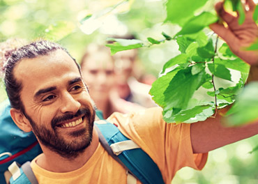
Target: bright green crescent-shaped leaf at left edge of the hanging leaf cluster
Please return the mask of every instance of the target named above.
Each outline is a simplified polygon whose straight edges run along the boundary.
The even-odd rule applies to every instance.
[[[153,82],[149,93],[152,95],[152,99],[155,101],[155,103],[160,105],[160,107],[165,106],[164,92],[167,89],[167,86],[169,86],[170,80],[173,79],[179,70],[181,70],[181,68],[175,68],[171,72],[167,72],[166,75],[162,75],[157,80],[155,80],[155,82]]]

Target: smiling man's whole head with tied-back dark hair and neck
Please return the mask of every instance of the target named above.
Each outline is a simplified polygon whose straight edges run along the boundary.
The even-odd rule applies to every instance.
[[[47,54],[40,55],[39,50]],[[40,141],[45,156],[38,162],[48,169],[59,162],[56,158],[75,159],[85,149],[94,151],[97,144],[91,141],[98,143],[93,132],[95,110],[75,61],[59,45],[46,41],[34,43],[33,47],[27,45],[15,54],[16,60],[23,59],[8,72],[8,66],[15,65],[15,59],[10,60],[6,70],[6,79],[17,79],[6,80],[8,93],[20,89],[17,99],[9,95],[12,107],[16,107],[10,114],[19,128],[26,132],[33,130]],[[83,156],[87,157],[88,153]],[[79,167],[82,163],[78,160],[75,165]]]

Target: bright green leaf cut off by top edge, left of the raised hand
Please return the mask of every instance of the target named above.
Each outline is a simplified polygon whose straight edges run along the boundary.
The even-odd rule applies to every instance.
[[[204,6],[206,1],[207,0],[168,0],[166,3],[167,18],[165,22],[172,22],[183,26],[191,17],[193,17],[195,10]]]

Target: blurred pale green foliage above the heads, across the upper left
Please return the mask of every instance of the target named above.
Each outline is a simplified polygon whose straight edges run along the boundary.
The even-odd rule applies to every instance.
[[[176,32],[171,25],[162,24],[166,16],[165,0],[125,0],[109,14],[103,13],[117,3],[121,0],[0,0],[0,42],[8,38],[54,40],[80,62],[89,43],[104,45],[106,38],[113,35],[132,33],[140,40],[147,40],[148,36],[164,38],[162,31]],[[84,21],[87,16],[90,20],[89,17],[102,14],[91,22]],[[92,33],[85,33],[94,26]],[[158,77],[163,63],[177,54],[172,46],[176,44],[139,49],[140,70]],[[1,102],[5,95],[2,86],[0,90]]]

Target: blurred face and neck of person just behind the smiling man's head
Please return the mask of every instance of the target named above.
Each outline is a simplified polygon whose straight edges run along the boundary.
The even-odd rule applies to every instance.
[[[82,56],[81,68],[91,98],[96,107],[103,112],[103,118],[109,117],[113,112],[128,113],[144,109],[137,104],[126,102],[114,89],[114,58],[109,48],[103,45],[89,45]]]

